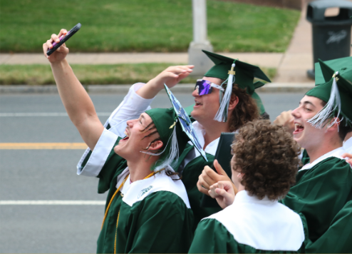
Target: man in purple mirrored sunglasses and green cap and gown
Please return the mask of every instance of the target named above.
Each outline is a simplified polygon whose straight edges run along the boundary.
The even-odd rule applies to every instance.
[[[211,151],[211,160],[208,165],[201,163],[199,157],[190,153],[185,155],[186,166],[181,165],[178,171],[182,171],[184,183],[189,194],[191,207],[200,204],[202,193],[208,195],[207,190],[212,183],[217,181],[231,181],[231,172],[204,170],[204,166],[211,165],[222,132],[234,132],[244,123],[259,118],[264,113],[264,106],[255,89],[264,86],[254,77],[270,82],[269,78],[257,66],[244,63],[238,59],[203,51],[214,66],[198,80],[192,96],[195,97],[195,106],[190,115],[196,121],[193,123],[198,136],[202,141],[205,152]],[[190,161],[189,163],[187,163]],[[197,188],[195,187],[197,183]],[[192,206],[192,200],[195,205]],[[211,215],[220,208],[199,208],[195,211],[196,222],[201,218]]]

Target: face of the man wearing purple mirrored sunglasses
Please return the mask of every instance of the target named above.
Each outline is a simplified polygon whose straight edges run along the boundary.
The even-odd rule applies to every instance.
[[[203,77],[202,79],[215,83],[218,86],[222,83],[219,78]],[[213,88],[212,93],[203,96],[200,96],[197,89],[195,89],[195,91],[192,92],[192,96],[195,97],[195,106],[193,107],[191,116],[202,124],[205,121],[212,121],[220,106],[219,89]]]

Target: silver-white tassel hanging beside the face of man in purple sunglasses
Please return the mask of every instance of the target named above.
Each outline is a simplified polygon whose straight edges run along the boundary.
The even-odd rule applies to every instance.
[[[219,110],[217,111],[217,114],[214,117],[214,120],[219,122],[227,121],[227,115],[229,113],[229,101],[232,95],[232,83],[234,83],[234,66],[235,64],[232,64],[231,71],[229,71],[229,78],[227,78],[227,87],[226,87],[224,96],[222,96],[220,92],[220,96],[219,96],[220,106],[219,106]]]

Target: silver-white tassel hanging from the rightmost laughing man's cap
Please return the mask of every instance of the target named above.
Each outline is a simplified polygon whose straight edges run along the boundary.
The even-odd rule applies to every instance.
[[[326,103],[326,106],[321,109],[314,117],[309,119],[307,123],[311,123],[311,126],[315,128],[323,128],[323,126],[326,125],[326,121],[328,121],[329,118],[334,116],[334,112],[336,111],[336,108],[338,108],[338,115],[340,115],[341,112],[341,98],[340,98],[340,93],[338,92],[338,86],[336,83],[336,75],[338,74],[338,71],[333,76],[333,85],[331,87],[331,93],[330,93],[330,98],[328,99],[328,103]],[[337,121],[337,118],[328,125],[328,128],[333,126],[335,123],[339,123],[340,121]]]

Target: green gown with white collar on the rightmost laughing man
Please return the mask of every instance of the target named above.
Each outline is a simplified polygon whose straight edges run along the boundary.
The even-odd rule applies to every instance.
[[[337,148],[303,166],[296,185],[281,200],[304,214],[312,243],[326,233],[338,212],[352,200],[352,168],[341,157],[344,152]]]

